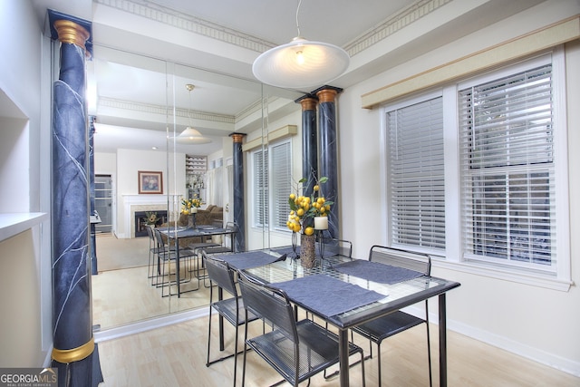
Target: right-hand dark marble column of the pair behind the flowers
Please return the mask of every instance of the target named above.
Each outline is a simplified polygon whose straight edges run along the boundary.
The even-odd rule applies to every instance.
[[[324,184],[324,196],[332,198],[334,205],[328,215],[328,233],[339,237],[338,208],[338,149],[336,143],[336,109],[334,99],[342,89],[325,86],[316,91],[318,97],[318,136],[320,146],[319,177],[327,177]]]

